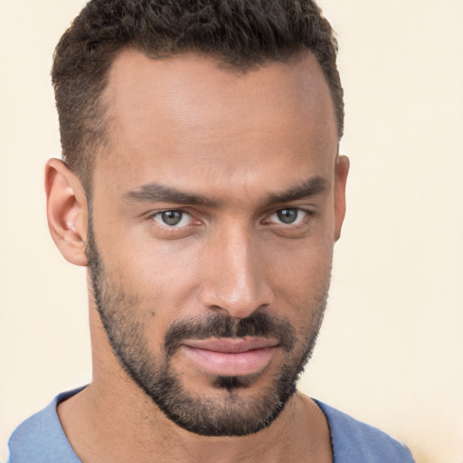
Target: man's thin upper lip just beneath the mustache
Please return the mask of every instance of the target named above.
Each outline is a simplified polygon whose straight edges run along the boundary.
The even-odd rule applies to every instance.
[[[240,354],[254,349],[264,349],[266,347],[275,347],[279,345],[275,339],[263,337],[249,338],[210,338],[210,339],[192,339],[184,342],[184,345],[203,349],[213,352],[222,352],[227,354]]]

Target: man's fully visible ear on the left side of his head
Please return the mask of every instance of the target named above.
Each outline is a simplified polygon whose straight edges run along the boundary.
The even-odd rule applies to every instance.
[[[45,165],[48,227],[64,259],[87,265],[87,197],[80,180],[59,159]]]

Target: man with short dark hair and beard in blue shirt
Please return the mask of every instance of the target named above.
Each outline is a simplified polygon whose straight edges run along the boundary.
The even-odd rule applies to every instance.
[[[88,266],[93,379],[14,431],[13,462],[411,462],[296,392],[349,169],[317,5],[92,0],[52,70],[52,238]]]

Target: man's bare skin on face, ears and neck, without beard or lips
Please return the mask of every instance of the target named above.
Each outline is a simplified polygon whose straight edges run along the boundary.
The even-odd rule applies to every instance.
[[[136,303],[150,353],[162,355],[169,324],[221,313],[269,311],[297,333],[314,323],[345,215],[348,160],[337,156],[335,115],[317,60],[304,53],[241,73],[194,54],[150,60],[122,52],[105,93],[110,146],[94,170],[92,216],[112,282]],[[326,188],[275,202],[314,178]],[[146,184],[200,194],[203,204],[128,200]],[[63,256],[87,265],[88,203],[78,178],[46,167],[48,218]],[[270,200],[273,197],[273,200]],[[283,208],[296,224],[279,221]],[[189,215],[177,228],[159,212]],[[204,437],[168,420],[118,364],[90,291],[93,380],[59,405],[63,429],[84,462],[332,461],[329,430],[300,393],[268,428],[245,437]],[[241,400],[259,398],[283,362],[274,349]],[[227,391],[184,350],[175,372],[194,396],[220,403]]]

